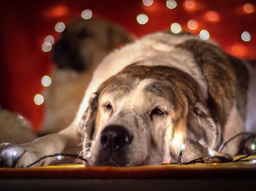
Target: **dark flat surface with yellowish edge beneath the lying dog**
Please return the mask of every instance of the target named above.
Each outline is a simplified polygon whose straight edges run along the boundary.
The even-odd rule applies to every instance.
[[[77,164],[0,168],[0,190],[17,188],[62,191],[256,190],[256,163],[251,160],[236,163],[164,164],[130,168],[84,167]]]

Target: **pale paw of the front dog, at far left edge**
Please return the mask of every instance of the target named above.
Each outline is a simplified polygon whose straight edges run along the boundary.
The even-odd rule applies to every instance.
[[[38,151],[28,149],[26,146],[3,143],[0,145],[0,167],[27,167],[40,158]],[[47,165],[48,160],[42,160],[32,167]]]

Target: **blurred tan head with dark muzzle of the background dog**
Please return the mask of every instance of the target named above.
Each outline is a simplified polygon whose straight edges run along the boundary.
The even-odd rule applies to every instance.
[[[129,41],[127,33],[114,24],[97,18],[76,19],[67,25],[53,47],[52,58],[61,69],[83,71],[99,63],[118,44]]]

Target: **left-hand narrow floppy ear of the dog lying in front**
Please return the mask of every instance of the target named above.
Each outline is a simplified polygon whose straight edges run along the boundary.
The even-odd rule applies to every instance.
[[[98,108],[98,93],[94,93],[90,96],[90,100],[88,103],[88,108],[82,114],[82,118],[80,121],[80,131],[82,135],[82,140],[91,139],[92,133],[94,129],[94,121]],[[88,145],[88,144],[85,144]]]

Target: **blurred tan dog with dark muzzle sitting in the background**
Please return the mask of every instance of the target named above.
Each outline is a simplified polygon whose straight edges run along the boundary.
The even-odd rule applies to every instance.
[[[56,133],[72,122],[94,69],[108,53],[129,41],[121,27],[102,19],[76,19],[68,24],[53,48],[57,67],[44,92],[41,134]]]

